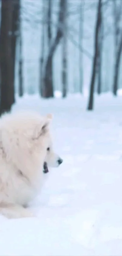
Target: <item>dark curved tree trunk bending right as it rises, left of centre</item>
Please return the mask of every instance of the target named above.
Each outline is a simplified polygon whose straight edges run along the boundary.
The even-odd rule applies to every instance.
[[[60,0],[60,10],[59,10],[59,18],[58,18],[58,28],[56,32],[56,36],[54,40],[51,42],[51,47],[48,52],[48,57],[45,64],[45,72],[44,72],[44,97],[50,98],[54,97],[53,93],[53,86],[50,82],[50,65],[53,60],[53,56],[55,53],[55,50],[62,38],[62,22],[63,22],[63,9],[64,9],[65,0]]]

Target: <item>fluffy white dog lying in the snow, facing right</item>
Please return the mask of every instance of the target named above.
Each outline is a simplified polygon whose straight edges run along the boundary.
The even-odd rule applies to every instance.
[[[31,217],[25,208],[42,186],[48,166],[62,159],[52,148],[51,114],[5,114],[0,119],[0,214],[7,218]]]

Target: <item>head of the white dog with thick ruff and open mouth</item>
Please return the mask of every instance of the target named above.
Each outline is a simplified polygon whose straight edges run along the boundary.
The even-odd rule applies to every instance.
[[[25,112],[2,118],[2,143],[7,160],[22,172],[34,173],[41,167],[58,167],[62,159],[54,153],[50,135],[52,115]]]

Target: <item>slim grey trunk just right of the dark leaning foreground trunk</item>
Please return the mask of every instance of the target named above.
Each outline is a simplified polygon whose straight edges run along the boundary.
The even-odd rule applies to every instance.
[[[102,6],[100,13],[100,29],[99,29],[99,45],[98,45],[98,85],[97,93],[101,94],[101,73],[102,73],[102,50],[103,50],[103,20],[102,20]]]

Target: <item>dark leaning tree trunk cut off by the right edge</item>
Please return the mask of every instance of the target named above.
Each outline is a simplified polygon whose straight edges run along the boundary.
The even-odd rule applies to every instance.
[[[121,53],[122,53],[122,32],[121,32],[120,45],[119,45],[119,49],[118,49],[118,52],[117,52],[117,57],[116,57],[116,60],[115,60],[116,62],[115,62],[114,85],[113,85],[113,94],[114,94],[114,96],[117,96]]]

